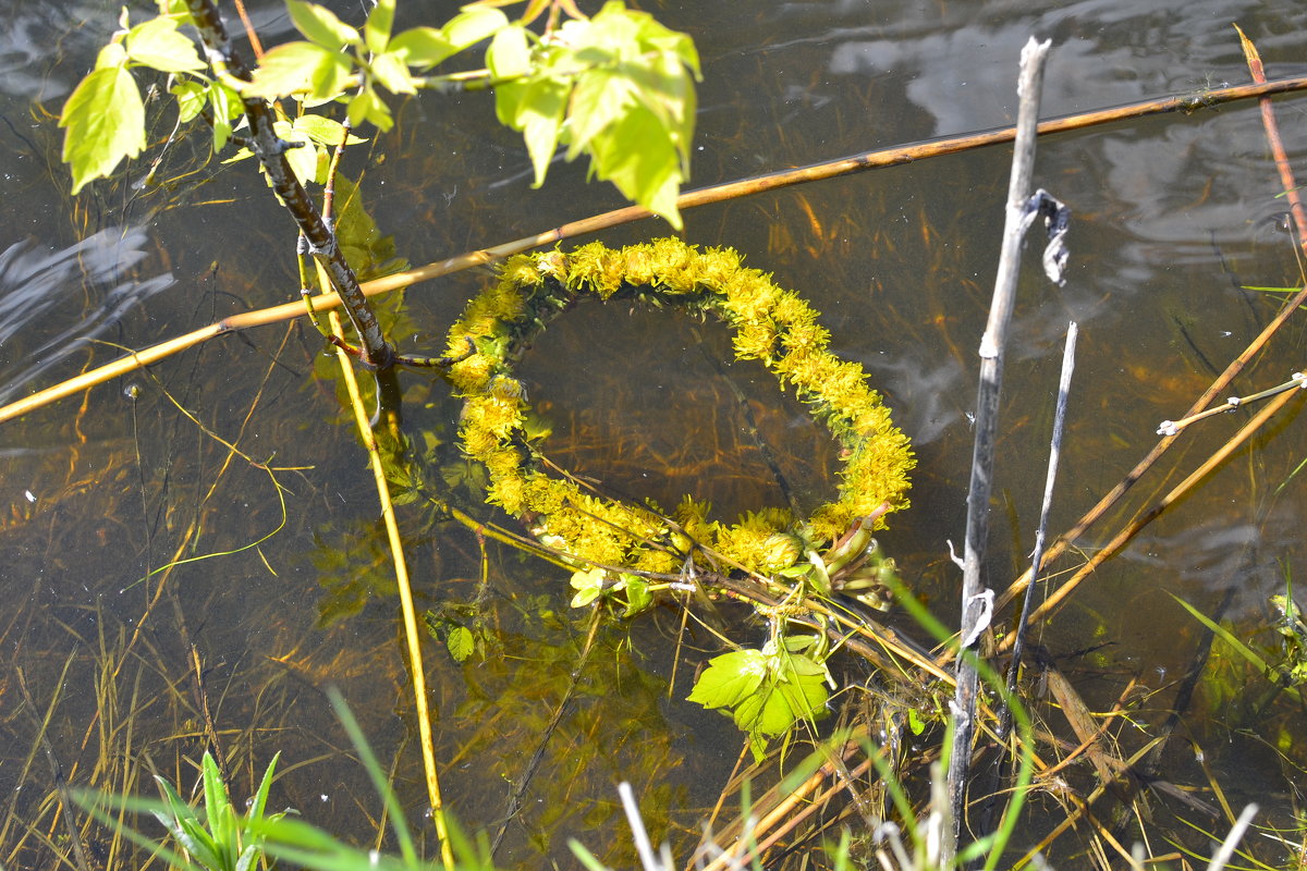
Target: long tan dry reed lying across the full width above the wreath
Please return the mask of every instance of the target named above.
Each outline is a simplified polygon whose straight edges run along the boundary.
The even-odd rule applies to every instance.
[[[1050,133],[1078,131],[1089,127],[1097,127],[1100,124],[1111,124],[1115,121],[1129,120],[1134,118],[1146,118],[1150,115],[1163,115],[1168,112],[1191,112],[1197,108],[1218,106],[1221,103],[1230,103],[1242,99],[1263,98],[1263,97],[1269,97],[1272,94],[1285,94],[1303,89],[1307,89],[1307,76],[1299,76],[1294,78],[1278,78],[1274,81],[1263,82],[1257,85],[1239,85],[1235,87],[1213,89],[1204,91],[1201,97],[1192,97],[1192,95],[1167,97],[1163,99],[1128,103],[1125,106],[1119,106],[1116,108],[1084,112],[1078,115],[1068,115],[1043,121],[1038,125],[1036,129],[1040,136],[1046,136]],[[745,179],[741,182],[728,182],[725,184],[718,184],[707,188],[701,188],[698,191],[690,191],[689,193],[682,193],[680,197],[677,197],[677,208],[682,210],[693,209],[695,206],[708,205],[712,202],[721,202],[736,197],[749,196],[754,193],[763,193],[767,191],[776,191],[795,184],[819,182],[823,179],[833,179],[842,175],[850,175],[852,172],[861,172],[864,170],[876,170],[889,166],[898,166],[901,163],[912,163],[915,161],[923,161],[932,157],[958,154],[961,151],[968,151],[972,149],[985,148],[989,145],[1001,145],[1004,142],[1010,142],[1014,138],[1014,136],[1016,136],[1016,128],[1005,127],[993,131],[985,131],[982,133],[970,133],[966,136],[955,136],[941,140],[933,140],[928,142],[916,142],[911,145],[902,145],[889,149],[864,151],[861,154],[838,158],[835,161],[817,163],[809,167],[801,167],[797,170],[784,170],[780,172],[774,172],[771,175]],[[642,209],[639,206],[626,206],[623,209],[614,209],[613,212],[605,212],[603,214],[592,215],[589,218],[583,218],[580,221],[572,221],[570,223],[561,225],[558,227],[554,227],[553,230],[546,230],[544,232],[532,236],[524,236],[514,242],[506,242],[503,244],[493,245],[478,251],[469,251],[456,257],[450,257],[448,260],[440,260],[437,262],[427,264],[425,266],[420,266],[418,269],[410,269],[408,272],[401,272],[393,276],[386,276],[383,278],[376,278],[369,282],[363,282],[362,285],[359,285],[359,287],[362,289],[363,295],[375,296],[378,294],[389,293],[400,287],[408,287],[409,285],[416,285],[422,281],[430,281],[433,278],[460,272],[463,269],[469,269],[472,266],[489,264],[493,262],[494,260],[507,257],[514,253],[529,251],[531,248],[538,248],[540,245],[548,245],[550,243],[579,236],[582,234],[596,232],[599,230],[606,230],[609,227],[616,227],[622,223],[630,223],[633,221],[639,221],[642,218],[650,218],[650,217],[652,217],[652,214],[648,210]],[[328,311],[331,308],[336,308],[337,306],[340,306],[340,298],[335,293],[327,293],[314,298],[314,308],[318,311]],[[67,381],[46,388],[44,390],[33,393],[31,396],[24,397],[22,400],[18,400],[16,402],[10,402],[9,405],[0,406],[0,423],[22,417],[29,411],[44,407],[46,405],[50,405],[52,402],[58,402],[59,400],[67,398],[68,396],[72,396],[73,393],[77,393],[78,390],[82,390],[85,388],[90,388],[97,384],[103,384],[110,379],[119,377],[142,366],[157,363],[167,356],[171,356],[173,354],[183,351],[188,347],[193,347],[195,345],[199,345],[201,342],[207,342],[210,338],[214,338],[216,336],[222,336],[223,333],[229,333],[238,329],[248,329],[251,326],[274,324],[278,321],[301,317],[305,313],[306,313],[305,304],[301,300],[301,302],[282,303],[281,306],[261,308],[252,312],[242,312],[239,315],[231,315],[230,317],[225,317],[223,320],[216,324],[210,324],[208,326],[187,333],[186,336],[179,336],[159,345],[152,345],[140,351],[133,351],[128,356],[120,358],[111,363],[106,363],[105,366],[84,372],[77,377],[68,379]],[[1201,407],[1196,410],[1201,410]],[[1056,543],[1055,547],[1057,547]],[[1050,559],[1052,559],[1055,555],[1056,554],[1051,550]],[[1025,588],[1022,586],[1021,589]],[[1009,594],[1014,593],[1009,590]]]

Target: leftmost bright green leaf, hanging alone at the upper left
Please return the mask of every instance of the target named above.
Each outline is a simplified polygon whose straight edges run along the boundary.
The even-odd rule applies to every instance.
[[[76,195],[145,148],[145,106],[132,73],[106,67],[86,76],[64,103],[59,125],[67,128],[63,159]]]

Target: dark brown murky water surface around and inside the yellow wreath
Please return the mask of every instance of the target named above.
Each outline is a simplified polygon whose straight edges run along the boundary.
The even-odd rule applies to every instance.
[[[425,5],[431,20],[456,8]],[[1300,4],[639,5],[690,33],[703,59],[693,187],[1010,124],[1017,59],[1031,34],[1053,42],[1046,116],[1247,81],[1231,22],[1257,43],[1272,77],[1307,71]],[[252,9],[267,42],[288,38],[280,4]],[[67,196],[55,115],[112,31],[118,8],[8,0],[5,10],[0,400],[111,359],[112,346],[142,347],[290,299],[289,222],[252,166],[192,172],[200,138],[165,161],[163,189],[131,187],[142,161],[115,183]],[[349,4],[341,14],[359,16]],[[1303,106],[1293,97],[1276,102],[1299,172],[1307,172]],[[153,157],[173,115],[150,118]],[[975,349],[1009,161],[1010,150],[996,148],[685,214],[689,242],[736,248],[802,294],[822,312],[833,350],[861,362],[885,393],[919,467],[912,508],[893,518],[882,543],[946,622],[961,580],[948,541],[961,543],[963,531]],[[414,265],[621,205],[610,187],[584,184],[579,165],[557,163],[546,187],[532,191],[521,142],[497,127],[486,94],[405,103],[396,129],[356,149],[345,171],[363,174],[371,215]],[[1158,422],[1179,417],[1274,316],[1278,298],[1244,286],[1303,281],[1251,103],[1042,140],[1036,180],[1074,212],[1072,261],[1065,287],[1042,279],[1033,252],[1022,278],[988,560],[988,582],[999,589],[1033,542],[1067,323],[1078,321],[1081,340],[1053,531],[1120,481],[1155,443]],[[646,221],[599,238],[623,244],[667,232]],[[409,291],[397,329],[405,350],[439,349],[488,277],[460,273]],[[1236,380],[1239,393],[1302,366],[1300,317]],[[778,504],[757,445],[741,432],[742,396],[800,499],[825,499],[830,445],[761,370],[741,364],[723,376],[715,360],[728,349],[725,330],[670,315],[596,306],[558,321],[524,366],[532,400],[554,424],[552,456],[664,505],[684,492],[711,499],[723,517]],[[322,692],[336,684],[380,757],[393,760],[412,815],[422,816],[386,535],[329,372],[307,324],[267,326],[3,424],[0,589],[9,607],[0,618],[0,795],[9,797],[9,816],[0,863],[44,861],[38,832],[54,831],[42,804],[51,782],[43,763],[27,763],[47,709],[44,734],[74,785],[149,791],[150,770],[193,781],[184,760],[201,751],[201,717],[182,622],[205,662],[210,710],[238,781],[247,784],[281,750],[295,768],[274,803],[335,831],[369,832],[376,800],[362,773],[340,761],[346,742]],[[421,373],[401,379],[414,443],[447,440],[457,407],[444,384]],[[1040,628],[1039,644],[1065,657],[1061,667],[1095,710],[1137,682],[1128,700],[1133,726],[1115,733],[1123,755],[1157,734],[1200,650],[1201,627],[1172,594],[1208,612],[1229,599],[1225,620],[1277,659],[1269,597],[1302,575],[1304,479],[1291,477],[1304,458],[1299,410],[1291,402],[1278,424]],[[1185,434],[1132,492],[1132,508],[1076,542],[1078,552],[1055,571],[1081,564],[1249,414]],[[269,474],[214,436],[276,467],[285,511]],[[426,656],[447,802],[468,827],[495,831],[566,693],[584,619],[569,612],[566,572],[493,543],[482,551],[464,528],[435,522],[421,500],[401,515],[421,607],[472,602],[485,571],[488,656],[459,666],[435,641]],[[201,555],[209,559],[174,569],[161,595],[158,577],[140,581],[170,560]],[[912,631],[902,614],[890,619]],[[720,648],[703,632],[677,646],[678,623],[680,614],[664,609],[600,633],[521,794],[503,864],[537,866],[541,854],[566,864],[569,836],[629,862],[614,789],[623,778],[642,795],[655,836],[672,837],[682,853],[698,836],[741,740],[728,721],[684,701],[695,667]],[[761,627],[736,632],[741,642],[763,637]],[[22,703],[20,675],[34,709]],[[1218,645],[1161,774],[1216,804],[1196,761],[1201,752],[1231,804],[1256,799],[1260,823],[1290,827],[1307,729],[1297,703],[1268,701],[1269,687]],[[1069,735],[1055,710],[1044,714]],[[1226,828],[1165,799],[1155,808],[1159,824],[1188,814]],[[1052,799],[1038,799],[1018,841],[1033,842],[1057,814]],[[1124,836],[1137,838],[1137,831]],[[1280,862],[1268,844],[1259,855]],[[1051,857],[1082,867],[1084,846],[1068,837]],[[1193,846],[1206,849],[1201,838]]]

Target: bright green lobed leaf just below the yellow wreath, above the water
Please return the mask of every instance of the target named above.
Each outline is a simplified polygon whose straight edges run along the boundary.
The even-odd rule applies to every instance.
[[[762,650],[723,653],[699,675],[689,700],[729,710],[761,759],[769,738],[784,735],[799,721],[826,716],[827,673],[809,653],[814,641],[795,636]]]

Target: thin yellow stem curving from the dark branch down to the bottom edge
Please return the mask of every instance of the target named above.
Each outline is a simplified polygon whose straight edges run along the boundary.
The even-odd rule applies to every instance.
[[[329,315],[332,332],[341,336],[340,315]],[[389,539],[391,555],[395,560],[395,580],[400,592],[400,607],[404,616],[404,639],[408,644],[409,673],[413,680],[413,704],[417,716],[418,739],[422,744],[422,768],[426,773],[426,794],[431,803],[431,817],[435,820],[435,833],[440,841],[440,859],[446,871],[454,871],[454,849],[450,844],[450,831],[444,819],[444,803],[440,799],[440,780],[435,767],[435,746],[431,735],[431,712],[427,706],[426,670],[422,666],[421,635],[418,633],[417,609],[413,605],[413,588],[409,585],[408,563],[404,559],[404,543],[400,539],[399,524],[395,520],[395,504],[391,501],[389,486],[386,482],[386,465],[382,461],[380,448],[376,436],[369,422],[367,410],[363,407],[363,398],[358,392],[358,379],[354,376],[354,366],[349,354],[342,349],[336,349],[336,359],[340,362],[341,376],[345,379],[345,388],[349,392],[350,406],[354,409],[354,423],[358,426],[358,436],[367,448],[371,460],[372,477],[376,481],[376,496],[382,503],[382,518],[386,522],[386,535]]]

